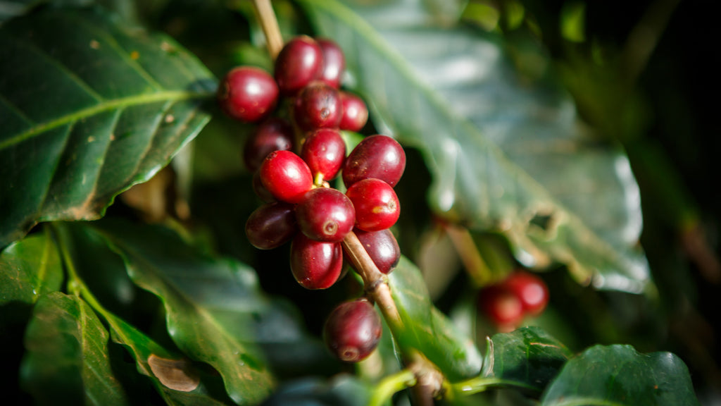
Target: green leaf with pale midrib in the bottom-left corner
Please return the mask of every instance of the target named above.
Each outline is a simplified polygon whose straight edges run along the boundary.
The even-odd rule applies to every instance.
[[[108,334],[80,298],[60,292],[35,304],[20,382],[39,405],[128,405],[113,375]]]

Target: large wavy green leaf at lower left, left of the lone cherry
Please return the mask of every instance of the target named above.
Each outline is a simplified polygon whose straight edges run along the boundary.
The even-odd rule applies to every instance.
[[[123,258],[133,282],[163,301],[178,347],[216,368],[235,402],[256,404],[273,389],[264,349],[282,358],[277,363],[317,366],[319,342],[285,304],[262,294],[249,267],[200,254],[167,228],[104,221],[95,230]]]

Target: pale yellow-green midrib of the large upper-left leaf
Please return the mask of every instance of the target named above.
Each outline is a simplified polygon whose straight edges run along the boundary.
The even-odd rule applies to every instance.
[[[118,99],[112,99],[112,100],[106,100],[100,103],[97,103],[96,105],[92,105],[88,108],[84,108],[82,110],[76,111],[74,113],[66,114],[65,116],[58,117],[54,120],[47,121],[43,124],[37,124],[36,126],[33,126],[32,128],[28,129],[27,131],[23,131],[20,134],[15,135],[14,137],[10,137],[9,139],[6,139],[3,142],[0,142],[0,150],[4,150],[8,147],[12,147],[16,144],[19,144],[20,142],[23,142],[27,139],[31,139],[33,137],[37,137],[40,134],[45,133],[45,131],[49,131],[51,129],[56,129],[60,126],[70,124],[74,121],[81,120],[83,118],[88,118],[90,116],[94,116],[99,113],[104,113],[107,111],[114,111],[119,108],[126,108],[128,106],[133,105],[143,105],[143,104],[149,104],[149,103],[155,103],[159,101],[164,100],[172,100],[172,101],[182,101],[182,100],[192,100],[192,99],[208,99],[215,96],[214,92],[205,91],[205,92],[188,92],[188,91],[164,91],[164,92],[154,92],[154,93],[147,93],[142,95],[134,95],[127,98],[118,98]]]

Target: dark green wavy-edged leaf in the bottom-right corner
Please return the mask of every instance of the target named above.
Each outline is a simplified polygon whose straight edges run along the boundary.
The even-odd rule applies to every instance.
[[[698,405],[689,370],[672,353],[640,354],[629,345],[596,345],[569,360],[544,406]]]

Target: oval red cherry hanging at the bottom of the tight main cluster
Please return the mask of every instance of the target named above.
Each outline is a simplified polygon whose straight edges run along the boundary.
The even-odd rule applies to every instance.
[[[340,243],[314,241],[303,233],[296,234],[291,243],[291,272],[306,289],[330,288],[343,268],[343,249]]]

